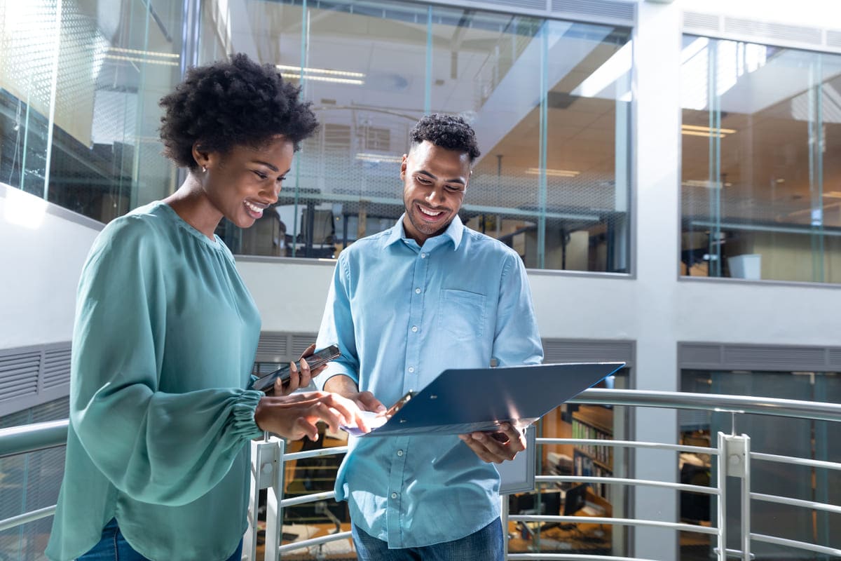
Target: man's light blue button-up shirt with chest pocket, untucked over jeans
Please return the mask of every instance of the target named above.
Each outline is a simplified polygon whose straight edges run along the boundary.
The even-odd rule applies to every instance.
[[[316,346],[389,406],[447,368],[538,364],[543,352],[526,269],[510,247],[460,220],[424,245],[397,225],[342,251]],[[482,389],[477,388],[477,392]],[[449,542],[500,516],[500,477],[458,436],[351,438],[336,500],[389,548]]]

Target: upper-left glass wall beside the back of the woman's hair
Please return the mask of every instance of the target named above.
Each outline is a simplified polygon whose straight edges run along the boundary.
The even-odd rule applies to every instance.
[[[0,181],[103,222],[171,193],[157,101],[180,76],[181,3],[4,9]]]

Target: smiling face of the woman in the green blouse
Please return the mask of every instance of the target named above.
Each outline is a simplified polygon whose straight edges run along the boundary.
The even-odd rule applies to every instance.
[[[278,135],[264,146],[235,146],[229,152],[206,156],[206,172],[199,162],[197,175],[209,203],[240,228],[262,217],[278,202],[281,183],[292,166],[294,144]]]

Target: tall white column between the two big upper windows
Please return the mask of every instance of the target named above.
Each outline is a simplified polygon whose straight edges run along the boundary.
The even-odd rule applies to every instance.
[[[678,389],[677,310],[680,262],[680,15],[674,3],[639,3],[634,34],[637,211],[633,226],[637,248],[637,389]],[[634,437],[641,442],[676,442],[674,410],[636,408]],[[640,479],[675,481],[675,453],[640,450],[633,454]],[[637,519],[677,521],[674,491],[637,487],[632,515]],[[673,530],[637,528],[633,555],[678,559]]]

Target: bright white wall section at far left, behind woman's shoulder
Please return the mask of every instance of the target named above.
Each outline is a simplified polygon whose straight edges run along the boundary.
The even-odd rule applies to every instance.
[[[0,183],[0,350],[70,341],[79,274],[102,226]]]

